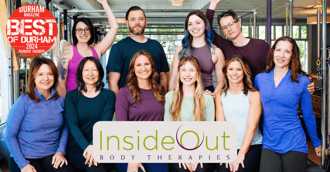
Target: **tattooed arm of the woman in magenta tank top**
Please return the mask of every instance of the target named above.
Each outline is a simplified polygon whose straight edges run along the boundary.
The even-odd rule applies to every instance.
[[[69,62],[72,57],[72,46],[62,50],[57,61],[58,80],[60,83],[60,95],[65,98],[66,95],[66,79],[68,76]]]

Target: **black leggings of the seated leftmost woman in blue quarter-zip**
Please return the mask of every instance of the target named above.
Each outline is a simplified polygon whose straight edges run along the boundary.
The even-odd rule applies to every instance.
[[[37,172],[73,172],[73,169],[69,162],[68,165],[63,164],[62,167],[58,166],[57,169],[54,168],[54,165],[51,164],[53,156],[54,154],[49,155],[48,157],[38,159],[26,158],[26,160],[30,161],[29,164],[32,165],[37,170]],[[13,157],[9,158],[8,167],[11,172],[21,172]]]

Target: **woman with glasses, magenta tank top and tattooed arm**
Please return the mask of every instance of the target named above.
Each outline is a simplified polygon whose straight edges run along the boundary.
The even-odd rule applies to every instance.
[[[93,56],[100,60],[100,57],[110,48],[115,40],[118,30],[118,23],[114,13],[111,11],[107,0],[97,0],[106,11],[111,29],[103,40],[95,45],[95,32],[92,22],[88,18],[77,19],[72,27],[73,45],[62,50],[57,61],[57,70],[60,81],[60,95],[65,98],[68,91],[76,89],[76,72],[79,63],[84,57]]]

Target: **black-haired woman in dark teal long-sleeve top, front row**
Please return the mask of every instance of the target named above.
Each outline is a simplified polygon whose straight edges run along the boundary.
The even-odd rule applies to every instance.
[[[68,114],[70,138],[67,158],[79,171],[109,171],[113,164],[98,164],[93,157],[93,126],[98,121],[112,121],[116,95],[103,89],[104,71],[95,57],[85,57],[80,62],[77,89],[67,93],[65,112]]]

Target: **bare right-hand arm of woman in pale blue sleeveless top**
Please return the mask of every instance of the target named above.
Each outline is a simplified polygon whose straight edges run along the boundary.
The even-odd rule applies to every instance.
[[[245,155],[248,153],[248,149],[250,148],[251,142],[258,127],[258,123],[262,111],[259,91],[250,92],[249,103],[250,103],[250,108],[248,111],[248,126],[244,134],[241,149],[237,154],[236,160],[232,163],[233,171],[235,171],[235,169],[238,168],[239,165],[238,163],[241,163],[242,166],[244,167],[243,161],[245,159]]]

